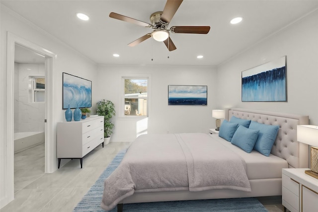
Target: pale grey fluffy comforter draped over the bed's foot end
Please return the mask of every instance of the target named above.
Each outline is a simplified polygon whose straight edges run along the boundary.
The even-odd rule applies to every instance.
[[[244,160],[209,135],[142,135],[104,181],[101,207],[111,210],[134,192],[251,191]]]

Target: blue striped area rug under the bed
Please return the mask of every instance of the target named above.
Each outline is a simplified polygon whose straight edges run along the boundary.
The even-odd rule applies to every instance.
[[[117,168],[126,150],[119,152],[79,202],[74,212],[105,212],[100,208],[104,180]],[[124,212],[268,212],[256,198],[191,200],[124,204]],[[117,207],[111,212],[117,212]]]

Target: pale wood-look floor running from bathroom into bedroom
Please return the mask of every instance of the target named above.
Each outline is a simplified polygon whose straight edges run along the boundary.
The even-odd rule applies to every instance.
[[[54,173],[44,173],[44,144],[14,155],[14,200],[0,212],[72,212],[116,154],[129,142],[98,146],[83,158],[65,160]],[[281,197],[259,198],[269,212],[282,212]]]

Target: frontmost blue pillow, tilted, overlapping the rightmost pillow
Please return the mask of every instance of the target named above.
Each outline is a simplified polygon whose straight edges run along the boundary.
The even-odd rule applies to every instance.
[[[233,135],[231,143],[239,146],[241,149],[250,153],[258,137],[258,130],[252,130],[239,125],[237,131]]]

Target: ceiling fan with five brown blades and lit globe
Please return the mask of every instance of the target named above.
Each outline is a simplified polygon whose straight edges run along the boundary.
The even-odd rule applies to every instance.
[[[120,15],[115,12],[111,12],[109,14],[109,17],[154,29],[154,31],[152,31],[151,33],[148,33],[141,38],[138,38],[137,40],[131,42],[130,44],[128,44],[128,46],[136,46],[137,44],[140,44],[148,38],[153,37],[157,41],[163,41],[168,50],[173,51],[176,50],[176,47],[169,36],[170,33],[208,34],[208,32],[210,31],[210,26],[172,26],[170,29],[167,29],[168,24],[170,23],[173,15],[179,8],[182,1],[183,0],[167,0],[163,11],[158,11],[151,14],[151,24],[124,15]]]

